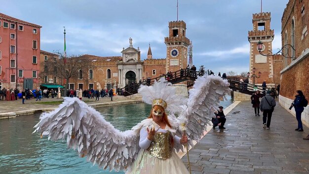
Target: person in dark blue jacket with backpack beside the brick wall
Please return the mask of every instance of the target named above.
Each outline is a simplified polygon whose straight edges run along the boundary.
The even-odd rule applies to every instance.
[[[304,131],[303,130],[303,123],[302,123],[302,112],[304,111],[304,107],[308,105],[308,100],[301,90],[296,91],[294,102],[292,103],[291,107],[294,106],[296,119],[298,122],[298,128],[295,131]]]

